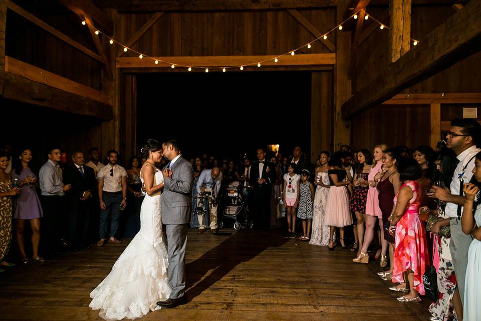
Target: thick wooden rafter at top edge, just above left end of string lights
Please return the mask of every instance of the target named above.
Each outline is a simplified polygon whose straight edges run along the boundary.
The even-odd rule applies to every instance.
[[[91,17],[97,28],[104,34],[114,33],[113,20],[97,8],[90,0],[60,0],[67,8],[75,12],[80,17],[85,15]]]

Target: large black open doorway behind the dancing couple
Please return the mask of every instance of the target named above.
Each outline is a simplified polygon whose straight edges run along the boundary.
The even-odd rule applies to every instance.
[[[148,138],[176,136],[186,157],[238,159],[268,144],[284,154],[300,144],[309,155],[310,119],[310,72],[137,76],[139,148]]]

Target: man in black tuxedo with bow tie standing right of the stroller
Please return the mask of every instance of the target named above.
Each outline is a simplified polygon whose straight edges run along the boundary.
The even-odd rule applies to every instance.
[[[251,214],[256,229],[269,230],[271,225],[271,185],[276,183],[277,173],[274,163],[266,161],[263,148],[257,150],[258,161],[251,166],[249,182],[251,192]]]

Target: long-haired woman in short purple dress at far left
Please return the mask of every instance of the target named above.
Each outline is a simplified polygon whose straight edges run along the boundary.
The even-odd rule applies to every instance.
[[[32,227],[32,251],[37,262],[44,259],[39,256],[40,243],[40,218],[44,216],[40,200],[37,195],[38,178],[29,167],[32,161],[32,151],[25,148],[14,158],[14,170],[12,170],[12,180],[18,179],[20,194],[15,201],[14,219],[17,230],[17,243],[22,254],[22,261],[28,263],[29,259],[25,253],[24,227],[25,221],[30,221]]]

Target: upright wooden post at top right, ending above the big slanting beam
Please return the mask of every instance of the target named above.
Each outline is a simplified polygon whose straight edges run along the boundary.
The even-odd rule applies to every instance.
[[[390,0],[390,59],[395,62],[409,51],[411,45],[411,0]]]

